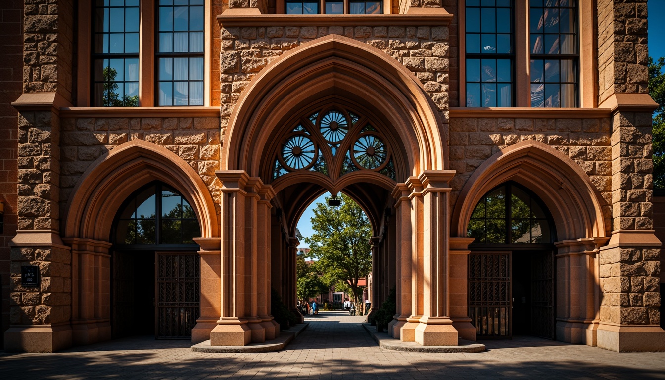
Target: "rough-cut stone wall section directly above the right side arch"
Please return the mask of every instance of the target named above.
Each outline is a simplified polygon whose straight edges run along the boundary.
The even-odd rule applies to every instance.
[[[587,173],[606,202],[611,202],[608,118],[451,118],[450,168],[457,171],[451,181],[451,204],[487,158],[505,146],[529,139],[569,156]]]

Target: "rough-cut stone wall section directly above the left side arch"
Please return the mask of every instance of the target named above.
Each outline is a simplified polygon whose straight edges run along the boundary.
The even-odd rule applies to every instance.
[[[102,154],[139,138],[164,146],[188,162],[219,204],[219,118],[65,118],[61,143],[61,205],[81,174]]]

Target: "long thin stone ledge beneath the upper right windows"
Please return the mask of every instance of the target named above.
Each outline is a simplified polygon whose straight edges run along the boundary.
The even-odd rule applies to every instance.
[[[608,118],[610,108],[451,107],[450,118]]]

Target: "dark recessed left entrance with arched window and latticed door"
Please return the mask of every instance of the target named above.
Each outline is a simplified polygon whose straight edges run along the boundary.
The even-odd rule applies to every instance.
[[[155,182],[120,208],[112,250],[112,335],[190,339],[199,317],[200,235],[190,204]]]

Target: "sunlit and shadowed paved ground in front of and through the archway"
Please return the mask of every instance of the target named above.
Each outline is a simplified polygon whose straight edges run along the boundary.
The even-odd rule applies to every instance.
[[[484,353],[383,351],[342,312],[275,353],[194,353],[186,341],[118,339],[51,354],[0,354],[0,379],[665,379],[665,353],[615,353],[523,337]]]

